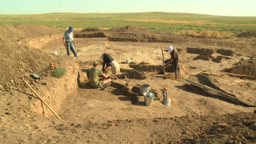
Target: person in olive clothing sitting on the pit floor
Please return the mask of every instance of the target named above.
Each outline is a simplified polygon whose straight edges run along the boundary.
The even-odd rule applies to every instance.
[[[98,62],[93,63],[94,68],[89,72],[89,84],[92,87],[103,87],[106,83],[110,83],[111,79],[109,75],[105,75],[100,68],[98,68]]]

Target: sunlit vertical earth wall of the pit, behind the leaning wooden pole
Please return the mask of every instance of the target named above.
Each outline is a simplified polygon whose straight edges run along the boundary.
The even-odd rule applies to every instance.
[[[69,62],[72,65],[65,65],[65,76],[61,78],[50,76],[49,79],[46,79],[46,85],[37,85],[38,94],[56,113],[61,110],[61,104],[65,98],[68,95],[76,95],[78,89],[79,63],[75,59],[69,60]],[[54,116],[54,113],[37,99],[32,101],[32,110],[39,115]]]

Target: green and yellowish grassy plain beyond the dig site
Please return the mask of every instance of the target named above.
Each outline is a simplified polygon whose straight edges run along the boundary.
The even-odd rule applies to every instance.
[[[256,17],[221,17],[193,13],[46,13],[0,15],[0,24],[39,24],[64,31],[70,25],[76,31],[87,27],[115,28],[133,25],[150,31],[189,35],[202,31],[233,35],[256,30]]]

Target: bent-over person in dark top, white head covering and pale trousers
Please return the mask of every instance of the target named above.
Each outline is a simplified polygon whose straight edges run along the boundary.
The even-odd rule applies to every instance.
[[[102,54],[101,57],[103,59],[102,72],[105,72],[106,68],[111,65],[111,71],[114,75],[120,73],[120,65],[113,59],[113,57],[111,57],[109,54]]]

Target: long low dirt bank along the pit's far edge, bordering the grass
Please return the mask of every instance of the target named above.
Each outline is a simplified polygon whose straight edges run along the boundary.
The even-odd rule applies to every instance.
[[[143,28],[136,28],[128,25],[126,27],[112,28],[109,30],[99,30],[98,28],[86,28],[83,31],[75,32],[76,38],[108,38],[115,42],[177,42],[177,43],[200,43],[213,46],[233,47],[239,49],[250,49],[254,43],[236,42],[232,39],[198,39],[184,37],[181,35],[166,34],[157,31],[147,31]],[[220,53],[230,52],[221,51]]]

